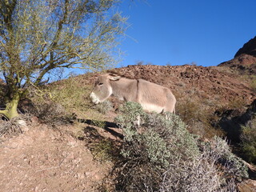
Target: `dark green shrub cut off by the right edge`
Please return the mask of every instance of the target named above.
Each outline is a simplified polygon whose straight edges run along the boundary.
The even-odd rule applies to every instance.
[[[241,150],[246,161],[256,164],[256,118],[242,126]]]

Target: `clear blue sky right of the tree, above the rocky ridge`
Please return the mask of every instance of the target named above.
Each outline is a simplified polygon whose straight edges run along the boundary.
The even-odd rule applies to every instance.
[[[123,0],[130,23],[118,66],[217,66],[256,36],[256,0]]]

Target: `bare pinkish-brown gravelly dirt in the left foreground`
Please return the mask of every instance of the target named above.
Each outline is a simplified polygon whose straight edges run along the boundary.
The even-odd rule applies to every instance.
[[[96,191],[111,165],[94,161],[85,142],[43,124],[0,143],[0,189]]]

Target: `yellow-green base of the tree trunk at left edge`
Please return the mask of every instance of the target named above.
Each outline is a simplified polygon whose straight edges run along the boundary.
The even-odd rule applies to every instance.
[[[20,95],[14,94],[14,97],[6,104],[5,110],[0,110],[0,114],[4,114],[9,120],[18,117],[18,102]]]

